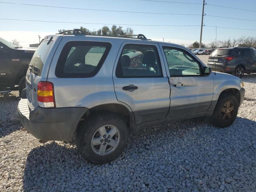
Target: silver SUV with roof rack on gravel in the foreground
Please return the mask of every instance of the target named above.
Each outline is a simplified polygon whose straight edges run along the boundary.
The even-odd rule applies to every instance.
[[[84,158],[104,164],[141,127],[199,116],[230,126],[244,92],[239,78],[211,73],[183,46],[74,30],[42,40],[18,111],[41,142],[76,138]]]

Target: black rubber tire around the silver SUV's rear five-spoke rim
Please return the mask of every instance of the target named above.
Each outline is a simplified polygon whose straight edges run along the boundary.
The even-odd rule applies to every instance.
[[[119,143],[114,151],[106,155],[99,155],[94,152],[91,141],[95,132],[106,125],[113,125],[118,129],[120,136]],[[118,158],[126,146],[127,139],[128,127],[122,117],[113,113],[102,113],[89,117],[87,121],[81,122],[78,127],[76,144],[78,151],[84,159],[93,164],[105,164]]]

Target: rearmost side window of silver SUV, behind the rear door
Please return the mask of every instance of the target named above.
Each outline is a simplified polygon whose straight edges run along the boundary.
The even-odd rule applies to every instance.
[[[64,46],[55,70],[59,78],[85,78],[98,73],[111,44],[71,41]]]

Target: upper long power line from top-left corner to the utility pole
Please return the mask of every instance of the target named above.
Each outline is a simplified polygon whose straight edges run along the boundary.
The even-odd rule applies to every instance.
[[[76,7],[60,7],[60,6],[48,6],[48,5],[38,5],[38,4],[25,4],[25,3],[12,3],[12,2],[2,2],[4,4],[15,4],[15,5],[26,5],[26,6],[38,6],[38,7],[48,7],[48,8],[62,8],[62,9],[76,9],[76,10],[90,10],[90,11],[105,11],[105,12],[123,12],[123,13],[142,13],[142,14],[161,14],[161,15],[194,15],[200,16],[200,14],[182,14],[182,13],[156,13],[156,12],[136,12],[136,11],[118,11],[118,10],[104,10],[104,9],[88,9],[88,8],[76,8]]]

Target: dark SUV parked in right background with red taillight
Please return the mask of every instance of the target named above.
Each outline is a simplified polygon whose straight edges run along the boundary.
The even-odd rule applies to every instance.
[[[208,67],[239,78],[256,72],[256,49],[250,47],[218,48],[209,56]]]

